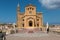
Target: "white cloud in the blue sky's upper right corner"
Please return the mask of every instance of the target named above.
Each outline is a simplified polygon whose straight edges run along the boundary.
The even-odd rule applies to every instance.
[[[60,0],[39,0],[39,2],[49,9],[60,7]]]

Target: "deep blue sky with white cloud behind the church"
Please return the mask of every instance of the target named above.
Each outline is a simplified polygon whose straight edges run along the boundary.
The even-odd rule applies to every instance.
[[[44,23],[60,24],[60,0],[0,0],[0,23],[16,23],[18,3],[20,12],[32,4],[37,12],[42,12]]]

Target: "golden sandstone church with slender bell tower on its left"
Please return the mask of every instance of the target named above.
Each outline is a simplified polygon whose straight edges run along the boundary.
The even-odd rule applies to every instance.
[[[17,5],[17,27],[18,28],[42,28],[42,12],[36,11],[36,6],[29,4],[25,7],[25,12],[20,12],[20,4]]]

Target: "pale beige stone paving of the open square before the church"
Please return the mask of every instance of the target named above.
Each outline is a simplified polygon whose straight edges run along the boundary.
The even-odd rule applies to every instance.
[[[60,40],[59,34],[54,33],[16,33],[6,36],[7,40]]]

